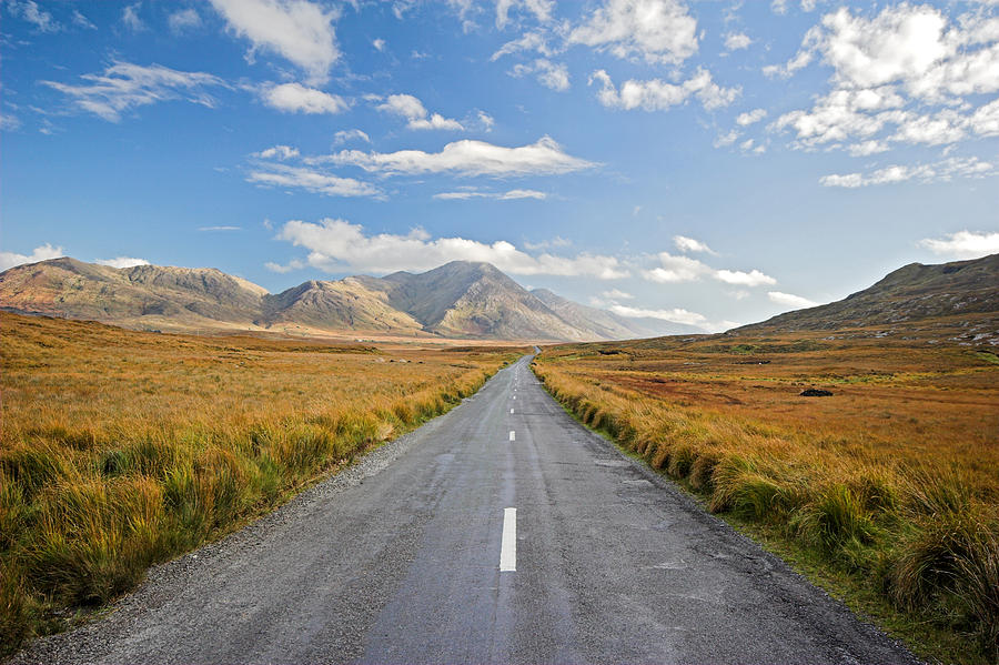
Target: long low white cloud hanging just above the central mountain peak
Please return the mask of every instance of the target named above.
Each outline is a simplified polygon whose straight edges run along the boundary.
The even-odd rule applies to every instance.
[[[292,220],[282,226],[278,238],[309,250],[306,263],[326,272],[346,269],[374,273],[423,271],[448,261],[485,261],[518,275],[592,276],[601,280],[628,276],[614,256],[587,253],[572,258],[549,253],[531,255],[503,240],[487,244],[464,238],[432,239],[421,229],[407,235],[367,235],[363,226],[345,220],[324,219],[319,223]]]

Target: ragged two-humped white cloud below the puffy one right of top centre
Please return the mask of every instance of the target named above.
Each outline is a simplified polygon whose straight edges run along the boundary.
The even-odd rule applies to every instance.
[[[638,81],[630,79],[622,83],[620,90],[604,70],[593,72],[589,83],[601,83],[597,99],[602,104],[616,109],[643,109],[662,111],[682,104],[692,95],[696,97],[705,109],[712,110],[727,107],[741,94],[741,88],[722,88],[712,80],[712,73],[698,68],[694,75],[679,84],[667,83],[659,79]]]

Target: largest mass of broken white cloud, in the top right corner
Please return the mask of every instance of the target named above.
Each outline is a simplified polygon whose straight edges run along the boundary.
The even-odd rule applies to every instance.
[[[833,68],[830,91],[810,109],[780,115],[795,147],[844,148],[854,155],[892,144],[953,144],[999,134],[999,19],[966,13],[951,21],[929,4],[878,13],[840,8],[823,17],[798,52],[765,72],[788,77],[817,59]]]

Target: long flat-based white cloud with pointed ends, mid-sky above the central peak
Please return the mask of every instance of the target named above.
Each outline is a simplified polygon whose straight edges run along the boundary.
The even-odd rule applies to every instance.
[[[504,148],[484,141],[454,141],[441,152],[400,150],[362,152],[344,150],[313,161],[354,165],[371,172],[456,173],[458,175],[551,175],[591,169],[597,164],[566,154],[549,137],[519,148]]]

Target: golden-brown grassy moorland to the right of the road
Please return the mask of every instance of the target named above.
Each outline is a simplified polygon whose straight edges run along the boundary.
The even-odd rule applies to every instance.
[[[999,661],[996,350],[827,336],[561,346],[535,372],[917,652]]]

